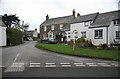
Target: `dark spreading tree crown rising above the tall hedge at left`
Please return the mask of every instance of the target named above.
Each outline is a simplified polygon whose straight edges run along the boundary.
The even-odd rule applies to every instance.
[[[2,21],[5,23],[5,25],[7,26],[7,28],[11,28],[12,24],[19,24],[19,17],[15,15],[7,15],[4,14],[4,16],[2,16]]]

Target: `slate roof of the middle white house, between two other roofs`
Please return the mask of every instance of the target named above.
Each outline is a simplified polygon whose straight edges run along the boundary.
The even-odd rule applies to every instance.
[[[86,22],[86,21],[94,21],[94,19],[96,18],[96,16],[99,13],[93,13],[93,14],[88,14],[88,15],[80,15],[78,16],[76,19],[74,19],[72,21],[72,23],[80,23],[80,22]]]

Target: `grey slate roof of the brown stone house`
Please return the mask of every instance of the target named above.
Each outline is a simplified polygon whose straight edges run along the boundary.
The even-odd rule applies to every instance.
[[[44,21],[41,26],[48,26],[48,25],[54,25],[54,24],[63,24],[63,23],[71,23],[74,19],[73,15],[70,16],[64,16],[64,17],[57,17],[57,18],[51,18],[46,21]]]

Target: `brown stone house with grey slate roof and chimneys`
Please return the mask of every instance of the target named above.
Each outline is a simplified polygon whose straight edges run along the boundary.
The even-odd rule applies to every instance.
[[[40,38],[45,39],[56,39],[56,35],[62,35],[61,41],[66,41],[67,31],[70,31],[70,23],[75,19],[75,10],[72,15],[51,18],[46,16],[46,20],[40,25]]]

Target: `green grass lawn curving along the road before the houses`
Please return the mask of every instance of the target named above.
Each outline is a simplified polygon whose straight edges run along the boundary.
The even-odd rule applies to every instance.
[[[66,55],[120,60],[117,49],[75,48],[73,51],[72,46],[63,44],[37,44],[36,47]]]

